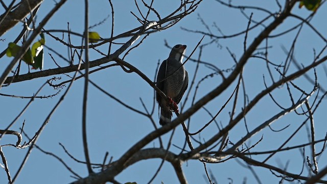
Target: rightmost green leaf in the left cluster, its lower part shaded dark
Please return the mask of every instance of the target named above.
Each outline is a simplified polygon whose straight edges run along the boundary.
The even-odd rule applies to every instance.
[[[32,56],[34,58],[35,63],[32,64],[32,69],[43,68],[43,45],[45,44],[44,34],[40,34],[41,39],[35,42],[32,45]]]

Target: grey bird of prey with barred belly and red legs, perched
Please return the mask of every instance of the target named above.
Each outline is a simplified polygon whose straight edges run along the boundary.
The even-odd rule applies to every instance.
[[[157,74],[156,86],[168,96],[169,101],[156,93],[156,100],[160,107],[161,126],[171,122],[172,110],[178,111],[177,104],[182,99],[189,84],[189,75],[182,65],[182,60],[186,51],[186,45],[177,44],[172,48],[168,59],[164,60]],[[174,105],[175,108],[170,106]]]

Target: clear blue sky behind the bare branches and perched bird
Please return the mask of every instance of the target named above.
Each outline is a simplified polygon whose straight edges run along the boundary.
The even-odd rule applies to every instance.
[[[130,11],[132,11],[138,15],[137,9],[132,1],[113,1],[112,3],[115,12],[114,35],[118,35],[139,26],[139,22],[130,13]],[[177,7],[179,3],[179,1],[155,1],[153,7],[155,7],[155,9],[160,12],[162,17],[164,17],[170,14],[170,12],[174,11],[175,7]],[[275,1],[232,1],[232,3],[235,3],[236,5],[244,5],[242,3],[245,3],[246,5],[255,5],[267,8],[271,12],[278,11],[278,7],[276,6]],[[283,5],[284,3],[282,2],[281,4]],[[45,1],[41,5],[37,16],[37,21],[40,21],[42,17],[44,17],[44,15],[52,9],[53,6],[53,1]],[[142,11],[146,12],[147,10],[143,8]],[[4,10],[2,9],[0,12],[3,13]],[[89,12],[90,25],[97,24],[99,21],[103,20],[109,15],[109,18],[104,22],[104,24],[91,29],[91,31],[98,32],[102,37],[109,38],[111,30],[111,10],[108,1],[97,1],[96,3],[90,1]],[[302,17],[307,17],[311,13],[305,8],[299,9],[297,5],[294,7],[292,12]],[[249,15],[251,11],[246,10],[245,13]],[[267,16],[267,14],[258,11],[253,11],[253,13],[253,20],[260,20],[264,16]],[[242,30],[245,30],[248,24],[246,18],[244,18],[239,10],[228,9],[213,0],[204,1],[200,4],[196,12],[182,19],[173,28],[151,34],[147,39],[144,40],[143,44],[129,53],[129,55],[125,58],[125,61],[133,64],[150,79],[153,79],[155,76],[155,69],[157,67],[158,60],[163,61],[168,57],[170,52],[170,50],[165,47],[165,40],[167,40],[171,46],[178,43],[188,45],[188,49],[186,50],[187,56],[195,48],[202,35],[185,32],[181,30],[181,27],[191,30],[205,31],[205,27],[201,24],[199,16],[205,20],[207,25],[216,35],[219,35],[219,33],[212,26],[214,22],[226,35],[238,33]],[[315,28],[324,36],[326,36],[327,33],[327,27],[325,24],[323,24],[325,21],[324,18],[326,16],[326,6],[323,5],[321,9],[317,11],[317,14],[311,21],[311,24],[315,26]],[[46,24],[45,29],[66,29],[67,22],[69,22],[69,27],[72,31],[82,34],[84,29],[83,17],[84,4],[82,1],[71,0],[64,4],[62,9],[60,9],[54,15],[48,24]],[[150,14],[148,19],[157,20],[154,14]],[[270,19],[270,21],[271,20],[272,19]],[[298,22],[299,21],[297,19],[290,17],[285,21],[284,25],[273,31],[272,35],[291,28]],[[20,31],[20,27],[21,25],[17,25],[14,29],[10,30],[3,37],[1,37],[6,39],[0,44],[1,51],[6,49],[8,43],[16,37],[17,33]],[[258,27],[251,31],[248,35],[248,44],[263,29],[263,27]],[[270,39],[268,44],[272,45],[272,48],[269,50],[269,59],[274,63],[284,63],[286,55],[283,53],[281,46],[284,45],[287,49],[289,49],[295,34],[296,31],[292,31],[283,37]],[[61,37],[61,33],[57,33],[57,36]],[[45,36],[45,39],[46,45],[52,49],[55,49],[63,56],[68,56],[67,48],[64,47],[61,43],[47,35]],[[65,37],[63,40],[66,41],[67,37]],[[118,42],[124,41],[126,41],[126,39],[118,40]],[[209,41],[211,41],[211,38],[205,37],[202,43]],[[238,59],[243,53],[243,41],[244,35],[231,39],[219,39],[218,43],[214,43],[205,47],[201,60],[215,64],[221,69],[231,68],[235,63],[233,62],[226,48],[230,49],[230,51],[235,54],[236,58]],[[79,37],[72,37],[72,42],[74,45],[79,45],[81,39]],[[308,26],[303,26],[303,32],[298,38],[294,56],[299,63],[308,65],[312,62],[312,58],[314,56],[313,49],[320,51],[324,45],[325,42],[321,41],[320,38],[314,34]],[[119,47],[120,45],[114,45],[113,50]],[[108,45],[103,45],[98,49],[106,53],[107,48]],[[55,68],[56,65],[53,63],[51,57],[48,54],[51,52],[47,50],[44,52],[45,70],[48,68]],[[56,61],[59,62],[61,66],[68,65],[55,54],[51,54],[55,57]],[[197,50],[194,53],[193,58],[197,58],[198,54],[199,51]],[[95,51],[90,50],[90,60],[95,60],[101,57],[103,56],[96,53]],[[9,63],[11,59],[12,58],[8,57],[3,57],[0,59],[0,72],[3,71],[3,68],[7,66],[6,64]],[[75,62],[76,61],[77,60],[75,60]],[[22,63],[22,65],[23,64],[24,63]],[[194,76],[195,66],[196,63],[192,61],[188,61],[188,63],[185,64],[185,68],[189,73],[190,79],[192,79]],[[292,71],[294,72],[295,70],[295,66],[291,65],[290,73],[292,73]],[[272,71],[275,80],[277,80],[279,74],[274,70],[274,68],[272,68]],[[22,66],[20,72],[21,74],[26,73],[27,66]],[[198,77],[196,79],[196,83],[209,72],[212,71],[201,65],[200,71],[197,74]],[[228,74],[229,73],[225,73],[226,76]],[[313,71],[309,71],[308,74],[313,76],[314,73]],[[268,85],[270,85],[271,80],[268,77],[269,74],[267,73],[266,64],[262,60],[252,59],[245,66],[244,82],[248,98],[250,100],[260,91],[265,89],[263,83],[263,75],[266,77],[266,82]],[[321,66],[317,68],[317,76],[319,83],[322,85],[326,83],[326,74],[324,73]],[[57,77],[62,77],[61,81],[58,81],[58,83],[68,79],[68,77],[65,75],[58,75]],[[44,77],[31,81],[13,83],[9,87],[3,87],[0,93],[17,96],[32,96],[35,91],[50,78],[51,77]],[[121,70],[121,67],[110,67],[106,70],[91,74],[90,79],[96,82],[98,85],[102,86],[110,94],[121,99],[134,108],[144,111],[139,98],[142,98],[148,108],[152,108],[153,89],[136,74],[126,74]],[[218,76],[205,80],[200,84],[200,88],[195,99],[198,100],[206,95],[209,91],[219,85],[221,80],[221,77]],[[303,78],[296,79],[294,82],[301,88],[305,89],[307,92],[310,92],[313,87],[312,84]],[[69,156],[67,156],[67,154],[58,144],[62,143],[69,151],[69,153],[80,160],[84,160],[81,133],[83,85],[83,79],[79,79],[74,82],[73,87],[65,97],[65,100],[56,110],[48,125],[46,125],[40,136],[40,139],[37,142],[37,145],[46,151],[58,155],[75,172],[85,177],[87,176],[86,166],[76,163],[74,160],[69,158]],[[235,85],[230,86],[226,91],[224,91],[222,95],[215,98],[205,107],[210,109],[211,112],[215,114],[232,93]],[[22,122],[25,120],[24,129],[29,134],[29,136],[33,136],[34,133],[38,130],[39,126],[45,120],[46,116],[48,116],[48,113],[51,111],[52,107],[58,102],[64,90],[66,90],[66,88],[63,88],[61,93],[53,98],[36,99],[35,102],[33,102],[25,112],[25,114],[12,127],[12,129],[19,130],[19,127],[21,127]],[[47,96],[55,93],[57,93],[57,90],[54,90],[50,86],[46,86],[41,91],[40,95]],[[193,94],[194,88],[191,89],[191,99]],[[285,85],[275,89],[272,95],[274,95],[277,101],[284,107],[287,108],[291,105]],[[300,97],[299,93],[294,92],[294,95],[295,99]],[[15,118],[15,116],[17,116],[18,112],[25,106],[26,103],[28,103],[29,99],[11,97],[0,97],[0,99],[0,117],[2,117],[1,125],[2,128],[4,128]],[[310,102],[313,102],[313,98],[310,100]],[[243,104],[242,97],[239,99],[239,103],[240,105],[237,108],[238,112],[241,110]],[[231,109],[231,105],[232,104],[228,104],[226,109],[222,111],[221,115],[217,119],[217,121],[221,122],[224,126],[229,121],[228,112]],[[189,99],[186,103],[186,108],[190,106],[191,100]],[[315,113],[317,140],[323,139],[325,135],[326,128],[324,109],[326,108],[327,104],[324,101],[321,104],[320,110]],[[157,122],[157,126],[159,126],[157,107],[155,110],[156,111],[153,118]],[[268,96],[263,98],[260,103],[258,103],[247,115],[246,121],[248,128],[250,130],[255,128],[257,125],[268,120],[271,116],[274,116],[274,114],[278,113],[279,111],[281,111],[281,109],[278,108]],[[194,114],[194,116],[192,116],[190,132],[197,131],[198,128],[202,127],[209,120],[211,120],[211,118],[207,115],[207,113],[203,109],[200,109],[196,114]],[[252,151],[276,149],[285,141],[285,139],[287,139],[288,136],[290,136],[290,134],[298,127],[298,125],[302,123],[302,120],[303,117],[299,117],[295,113],[291,113],[272,125],[273,129],[281,129],[286,125],[290,125],[286,130],[282,132],[272,132],[270,129],[265,129],[264,131],[253,136],[252,139],[247,142],[247,144],[252,145],[259,141],[261,136],[263,136],[263,141]],[[108,98],[92,85],[89,85],[87,123],[88,144],[92,163],[102,163],[106,151],[109,152],[109,156],[113,157],[113,160],[118,159],[128,150],[128,148],[141,140],[149,132],[153,131],[153,126],[147,118],[140,116],[133,111],[126,110],[125,107]],[[215,125],[211,125],[208,129],[201,132],[200,136],[202,141],[209,139],[209,137],[217,133],[217,131],[218,130]],[[235,127],[235,129],[229,132],[229,139],[231,142],[236,143],[245,134],[245,126],[244,123],[241,122]],[[167,145],[170,135],[171,132],[162,136],[165,145]],[[2,145],[15,143],[16,137],[7,135],[4,136],[1,141]],[[24,141],[27,141],[25,136],[23,142]],[[173,144],[182,146],[183,142],[184,133],[181,126],[179,126],[175,131]],[[300,133],[298,133],[294,139],[292,139],[292,141],[287,144],[287,146],[293,146],[307,142],[307,131],[305,128],[302,128]],[[147,145],[147,148],[158,146],[158,141],[154,141]],[[321,144],[317,146],[317,149],[321,149]],[[7,157],[9,169],[12,175],[14,175],[17,168],[19,167],[21,160],[24,158],[27,149],[17,150],[13,147],[4,147],[3,151]],[[172,147],[171,151],[179,153],[179,149],[176,147]],[[307,149],[306,155],[310,155],[309,149]],[[261,160],[265,158],[265,156],[255,156],[254,158]],[[283,168],[288,161],[290,162],[288,171],[292,173],[299,173],[302,167],[302,156],[298,150],[277,154],[269,160],[268,164]],[[318,161],[321,164],[326,163],[325,153],[320,156]],[[138,162],[123,171],[115,179],[122,183],[128,181],[146,183],[155,173],[160,162],[161,159],[150,159]],[[238,159],[238,161],[232,159],[220,164],[209,164],[207,165],[207,168],[212,171],[219,183],[228,183],[230,181],[229,178],[232,178],[233,183],[241,183],[244,178],[246,178],[247,183],[255,183],[256,180],[254,179],[251,172],[238,164],[238,162],[243,163],[240,159]],[[325,167],[325,165],[322,164],[320,168],[322,169],[323,167]],[[280,180],[280,178],[273,176],[267,169],[255,169],[263,183],[276,183]],[[203,164],[198,162],[198,160],[190,160],[189,162],[184,163],[183,170],[189,183],[207,182],[207,180],[204,178],[205,172],[203,169]],[[16,183],[67,183],[74,181],[74,178],[70,176],[71,174],[62,166],[61,163],[58,162],[58,160],[35,149],[33,150],[24,170],[21,172],[20,177],[17,179]],[[5,171],[0,172],[0,178],[3,178],[3,182],[6,182]],[[161,181],[164,183],[178,182],[176,174],[174,173],[173,168],[169,163],[164,164],[164,167],[161,169],[161,172],[158,174],[153,183],[160,183]]]

